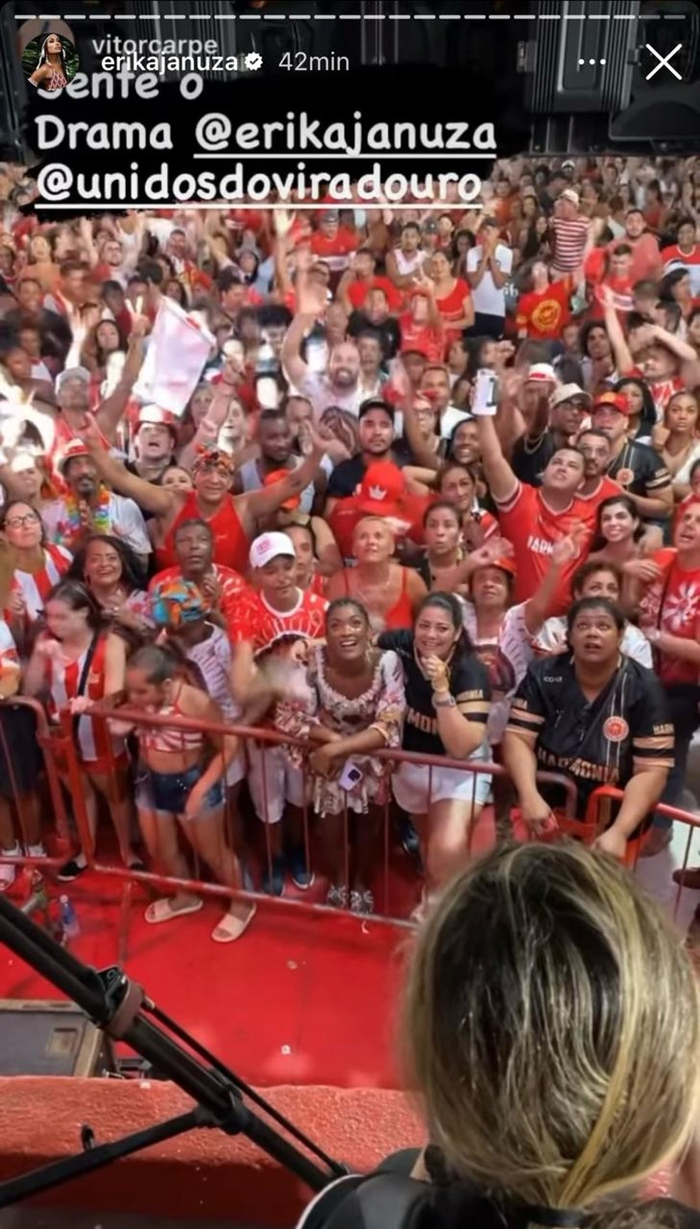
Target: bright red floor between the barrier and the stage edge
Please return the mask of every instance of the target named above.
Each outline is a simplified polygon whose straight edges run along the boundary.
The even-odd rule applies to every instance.
[[[80,923],[71,943],[75,955],[98,968],[123,962],[162,1011],[242,1079],[257,1085],[400,1086],[394,1030],[410,932],[264,901],[240,941],[219,945],[210,939],[221,913],[215,900],[199,913],[154,927],[144,921],[151,897],[143,885],[133,889],[128,909],[122,882],[92,871],[74,884],[49,885],[53,898],[63,891]],[[408,859],[397,854],[392,912],[406,916],[418,891]],[[292,892],[309,898],[321,895],[322,886]],[[21,905],[28,895],[21,875],[9,896]],[[378,905],[381,895],[378,885]],[[60,994],[0,946],[0,998]]]

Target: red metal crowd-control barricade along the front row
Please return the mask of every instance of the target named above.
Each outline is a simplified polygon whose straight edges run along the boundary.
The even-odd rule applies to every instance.
[[[338,908],[338,903],[327,903],[325,900],[319,898],[319,884],[316,885],[316,891],[299,893],[298,896],[274,896],[268,893],[262,893],[261,891],[246,890],[241,886],[234,886],[233,884],[223,884],[210,881],[203,878],[201,870],[202,863],[209,862],[208,858],[202,857],[201,850],[193,848],[193,863],[194,873],[187,875],[173,875],[164,874],[157,870],[138,870],[128,869],[124,865],[116,865],[113,862],[103,859],[98,855],[97,846],[102,843],[100,838],[98,842],[93,839],[92,830],[90,825],[90,817],[87,812],[86,798],[85,798],[85,774],[84,767],[80,763],[75,740],[74,740],[74,718],[65,710],[62,714],[60,726],[49,730],[43,709],[36,701],[20,701],[20,703],[27,704],[37,714],[37,729],[38,729],[38,741],[44,752],[46,762],[46,777],[48,782],[50,801],[53,804],[54,817],[57,823],[57,833],[59,837],[58,848],[65,857],[68,852],[68,820],[65,814],[64,793],[62,789],[62,780],[64,785],[68,787],[70,794],[70,801],[73,806],[73,816],[75,820],[75,827],[78,831],[78,839],[86,855],[89,866],[92,871],[96,871],[103,876],[118,878],[124,881],[123,889],[123,909],[122,909],[122,944],[125,943],[125,933],[128,929],[129,911],[132,905],[132,890],[135,884],[143,884],[146,887],[162,891],[172,892],[189,892],[204,897],[223,897],[223,898],[251,898],[251,900],[264,900],[267,903],[283,905],[289,907],[295,907],[300,909],[312,909],[315,913],[319,912],[335,912]],[[116,712],[109,705],[96,705],[90,712],[91,720],[93,721],[107,721],[114,719]],[[177,728],[180,731],[197,731],[203,734],[210,734],[215,737],[223,737],[225,735],[236,735],[241,744],[245,746],[253,746],[258,760],[262,760],[262,772],[258,772],[258,785],[262,783],[262,789],[258,788],[258,812],[261,805],[262,795],[262,811],[263,815],[268,816],[269,820],[269,806],[271,800],[269,791],[277,789],[279,785],[279,772],[282,771],[280,764],[283,760],[280,758],[279,748],[283,748],[283,755],[289,762],[296,757],[301,768],[304,768],[305,760],[310,751],[314,750],[309,744],[301,740],[295,740],[292,737],[285,737],[273,730],[257,729],[247,726],[224,726],[215,725],[213,723],[201,723],[193,721],[182,717],[160,717],[144,713],[139,710],[132,710],[128,708],[119,708],[118,720],[129,723],[137,729],[143,728]],[[293,755],[292,755],[293,752]],[[276,757],[276,766],[272,774],[268,773],[266,757]],[[372,760],[375,762],[384,763],[386,777],[400,764],[415,764],[421,766],[427,769],[427,794],[428,799],[433,796],[433,780],[439,779],[439,773],[448,771],[456,771],[465,777],[470,778],[471,782],[471,801],[476,800],[477,782],[483,774],[491,775],[493,783],[498,790],[506,794],[508,793],[509,780],[504,769],[493,763],[477,763],[470,761],[465,764],[464,761],[450,760],[443,756],[418,756],[406,751],[376,751],[372,753]],[[116,761],[112,762],[111,773],[114,779],[117,779],[119,773],[123,773],[123,768]],[[300,769],[301,771],[301,769]],[[276,775],[277,773],[277,775]],[[250,768],[244,769],[241,775],[250,777]],[[588,814],[583,822],[573,819],[576,811],[576,788],[572,782],[555,773],[541,773],[540,779],[550,780],[561,785],[565,790],[566,806],[560,816],[559,831],[563,833],[571,833],[579,839],[592,843],[597,832],[600,827],[605,826],[605,816],[603,807],[611,800],[619,799],[621,791],[603,787],[594,791],[592,796],[592,803],[588,809]],[[305,863],[309,871],[316,871],[317,864],[320,862],[317,857],[319,849],[319,831],[324,823],[327,821],[325,819],[316,820],[314,822],[314,811],[310,805],[310,790],[309,790],[309,773],[304,769],[301,771],[301,780],[304,784],[304,803],[300,810],[303,811],[301,820],[301,846],[305,854]],[[277,789],[277,794],[279,790]],[[383,800],[379,807],[381,812],[381,830],[378,832],[376,842],[376,865],[374,868],[374,884],[379,880],[381,881],[381,891],[379,892],[378,909],[370,913],[359,912],[358,917],[362,921],[372,919],[378,923],[390,923],[392,925],[406,927],[410,925],[410,919],[406,917],[407,909],[401,908],[396,900],[395,884],[396,878],[406,879],[406,866],[412,871],[408,879],[413,879],[413,885],[408,882],[408,895],[415,896],[417,891],[417,885],[420,882],[420,857],[417,849],[413,849],[413,865],[404,862],[404,865],[399,865],[397,870],[397,858],[395,857],[395,847],[399,844],[396,838],[397,831],[397,816],[396,806],[392,804],[390,798],[390,790],[385,790],[386,798]],[[230,791],[229,791],[230,801]],[[278,798],[277,798],[278,801]],[[429,805],[429,804],[428,804]],[[509,807],[506,809],[506,815]],[[668,807],[658,805],[656,807],[658,812],[669,815],[672,819],[683,822],[688,826],[688,842],[685,847],[685,857],[683,862],[683,868],[689,863],[690,857],[690,844],[693,838],[693,830],[700,827],[700,820],[689,812],[680,811],[675,807]],[[18,807],[17,807],[18,811]],[[241,848],[240,842],[240,830],[236,826],[236,816],[231,815],[231,807],[228,807],[228,817],[225,831],[221,836],[221,841],[226,842],[230,848],[233,848],[237,854],[240,854]],[[344,795],[344,805],[342,809],[342,815],[340,816],[342,826],[342,853],[341,860],[343,862],[343,882],[346,885],[351,884],[352,876],[352,860],[353,860],[353,839],[357,836],[358,823],[365,823],[367,819],[364,815],[356,816],[347,805],[347,794]],[[22,819],[18,814],[20,831],[23,831]],[[193,821],[196,822],[196,821]],[[256,823],[257,821],[253,821]],[[282,821],[285,822],[285,821]],[[269,871],[273,864],[274,837],[278,832],[274,831],[274,822],[257,822],[255,837],[255,844],[260,847],[262,844],[261,858],[263,870],[267,868]],[[279,831],[279,830],[278,830]],[[492,848],[498,838],[506,838],[509,834],[509,827],[507,822],[503,822],[503,817],[498,819],[495,815],[492,806],[486,805],[479,819],[472,822],[467,828],[467,853],[472,857],[479,857],[480,853],[486,852]],[[643,847],[643,838],[641,842],[635,842],[630,846],[627,864],[631,869],[636,868],[640,854]],[[381,859],[379,858],[379,849],[381,848]],[[55,866],[64,857],[53,857],[48,859],[31,859],[22,857],[17,859],[22,865],[32,865],[34,863],[39,865]],[[322,859],[321,859],[322,860]],[[379,873],[380,871],[380,873]],[[404,884],[406,887],[406,884]],[[680,898],[683,889],[678,887],[677,902]],[[349,905],[349,892],[346,893],[348,897],[348,903],[343,902],[343,908]],[[410,907],[410,906],[408,906]]]

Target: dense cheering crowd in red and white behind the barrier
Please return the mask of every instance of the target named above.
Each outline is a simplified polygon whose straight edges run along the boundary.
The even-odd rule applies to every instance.
[[[389,814],[417,918],[491,804],[546,836],[568,782],[600,849],[668,843],[700,724],[699,160],[512,159],[443,213],[46,224],[12,165],[0,197],[0,696],[70,705],[91,839],[108,815],[128,866],[322,871],[370,913]],[[213,339],[180,414],[134,393],[164,299]],[[6,889],[44,846],[33,715],[0,718]]]

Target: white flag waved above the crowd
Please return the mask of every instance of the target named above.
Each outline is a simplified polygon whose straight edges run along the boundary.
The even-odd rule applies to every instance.
[[[197,316],[173,299],[161,299],[134,396],[180,417],[215,344]]]

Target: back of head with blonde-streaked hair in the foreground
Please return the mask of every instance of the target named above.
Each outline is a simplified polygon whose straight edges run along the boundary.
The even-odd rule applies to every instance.
[[[497,849],[445,891],[404,1030],[432,1143],[507,1202],[610,1212],[696,1126],[690,960],[629,873],[578,844]]]

